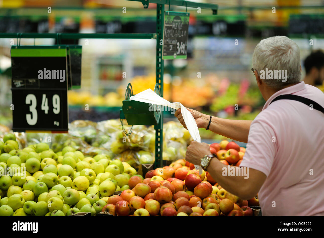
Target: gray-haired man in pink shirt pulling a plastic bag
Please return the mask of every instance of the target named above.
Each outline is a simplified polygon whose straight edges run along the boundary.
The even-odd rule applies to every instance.
[[[240,167],[248,167],[249,176],[222,176],[224,164],[206,143],[192,142],[186,160],[242,199],[259,193],[262,215],[324,215],[324,94],[300,82],[300,51],[285,36],[261,40],[252,63],[266,100],[253,121],[189,109],[199,128],[247,142]],[[175,116],[185,127],[180,109]]]

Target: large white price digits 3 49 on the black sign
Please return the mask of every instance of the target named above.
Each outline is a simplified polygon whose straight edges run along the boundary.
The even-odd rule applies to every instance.
[[[33,94],[28,94],[26,96],[26,104],[30,104],[29,106],[29,111],[31,112],[26,114],[26,120],[27,123],[31,126],[34,126],[37,123],[37,110],[36,110],[36,106],[37,106],[37,100],[36,100],[36,96]],[[57,94],[53,95],[52,98],[52,104],[53,104],[53,112],[55,114],[59,114],[60,113],[60,96],[58,96]],[[46,94],[42,95],[42,102],[41,102],[41,110],[44,111],[45,114],[48,114],[48,99],[46,97]]]

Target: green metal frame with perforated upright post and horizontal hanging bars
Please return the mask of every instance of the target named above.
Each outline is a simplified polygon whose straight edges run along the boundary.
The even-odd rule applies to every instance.
[[[162,60],[162,45],[163,40],[163,24],[164,24],[164,5],[193,7],[202,9],[211,9],[213,15],[217,14],[218,5],[208,3],[195,3],[184,0],[126,0],[142,2],[144,8],[148,8],[149,3],[156,3],[156,33],[0,33],[0,38],[53,38],[57,39],[58,43],[62,39],[156,39],[156,83],[160,87],[161,96],[163,97],[163,73],[164,60]],[[17,41],[18,43],[18,41]],[[163,167],[163,113],[160,121],[155,128],[155,163],[154,167]]]

